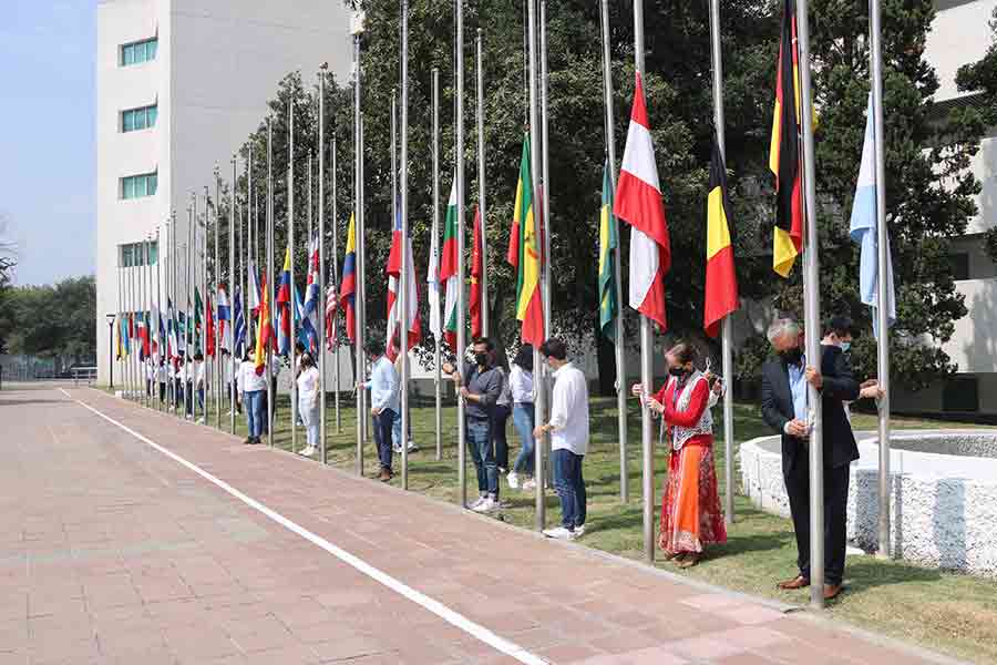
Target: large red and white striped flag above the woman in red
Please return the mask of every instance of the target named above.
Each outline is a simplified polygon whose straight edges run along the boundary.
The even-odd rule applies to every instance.
[[[630,307],[665,329],[665,275],[671,268],[671,242],[640,72],[613,212],[630,225]]]

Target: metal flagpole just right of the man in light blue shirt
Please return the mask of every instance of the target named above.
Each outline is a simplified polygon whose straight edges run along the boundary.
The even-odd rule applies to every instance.
[[[402,489],[409,489],[409,0],[402,0],[402,53],[401,53],[401,156],[399,157],[399,184],[401,185],[401,217],[402,217],[402,246],[401,246],[401,287],[400,315],[399,316],[399,354],[402,357],[401,385],[401,458],[402,458]]]

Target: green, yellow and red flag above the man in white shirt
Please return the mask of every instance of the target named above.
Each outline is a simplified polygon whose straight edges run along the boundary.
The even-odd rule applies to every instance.
[[[524,344],[538,347],[544,341],[544,307],[539,288],[541,249],[537,218],[533,205],[530,171],[530,135],[523,136],[520,181],[508,234],[506,260],[516,268],[516,320],[522,321]]]

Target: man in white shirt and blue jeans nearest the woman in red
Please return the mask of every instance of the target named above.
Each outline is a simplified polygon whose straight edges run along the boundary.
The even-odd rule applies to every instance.
[[[588,381],[568,362],[562,340],[547,339],[539,352],[554,371],[554,395],[549,422],[537,426],[533,436],[539,440],[551,433],[554,487],[561,498],[561,526],[544,530],[544,535],[573,540],[585,533],[588,503],[582,477],[582,462],[588,452]]]

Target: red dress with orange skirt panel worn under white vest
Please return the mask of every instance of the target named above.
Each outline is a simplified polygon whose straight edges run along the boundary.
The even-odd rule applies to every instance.
[[[672,426],[692,428],[708,407],[709,382],[697,382],[689,405],[681,411],[677,407],[677,380],[668,381],[655,399],[665,406],[662,418],[669,429]],[[703,546],[711,543],[726,543],[727,528],[713,466],[713,436],[693,436],[678,451],[672,450],[669,438],[668,451],[668,479],[661,500],[658,544],[667,554],[680,554],[702,552]]]

